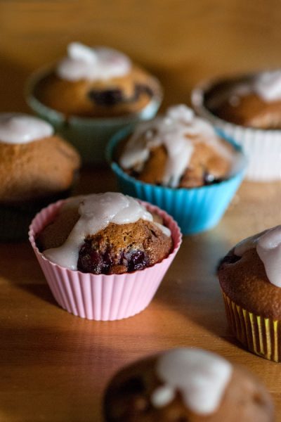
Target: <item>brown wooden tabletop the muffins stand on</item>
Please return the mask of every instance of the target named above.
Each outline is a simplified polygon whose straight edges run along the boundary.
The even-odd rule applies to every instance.
[[[122,321],[68,314],[56,305],[31,246],[0,245],[0,421],[102,421],[103,390],[117,369],[178,346],[204,347],[247,366],[281,414],[281,364],[233,338],[216,279],[216,264],[233,243],[280,223],[280,188],[244,182],[215,229],[183,239],[150,306]],[[115,189],[109,170],[82,174],[80,192]]]

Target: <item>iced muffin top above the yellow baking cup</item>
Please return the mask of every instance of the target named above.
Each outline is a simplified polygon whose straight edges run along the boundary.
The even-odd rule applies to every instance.
[[[281,226],[238,243],[223,258],[218,278],[233,302],[266,318],[281,319]]]

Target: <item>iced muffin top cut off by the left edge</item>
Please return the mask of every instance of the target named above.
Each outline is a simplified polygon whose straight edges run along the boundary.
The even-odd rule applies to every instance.
[[[0,114],[0,201],[35,200],[66,191],[79,169],[78,153],[37,117]]]

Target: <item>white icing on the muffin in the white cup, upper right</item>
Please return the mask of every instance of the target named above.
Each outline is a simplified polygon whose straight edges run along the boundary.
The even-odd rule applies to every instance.
[[[281,99],[281,70],[263,72],[254,79],[254,92],[263,101],[277,101]]]

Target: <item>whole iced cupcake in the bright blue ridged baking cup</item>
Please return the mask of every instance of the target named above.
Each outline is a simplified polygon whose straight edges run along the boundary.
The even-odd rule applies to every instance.
[[[210,229],[242,181],[244,156],[184,105],[119,132],[107,159],[124,193],[169,212],[183,234]]]

